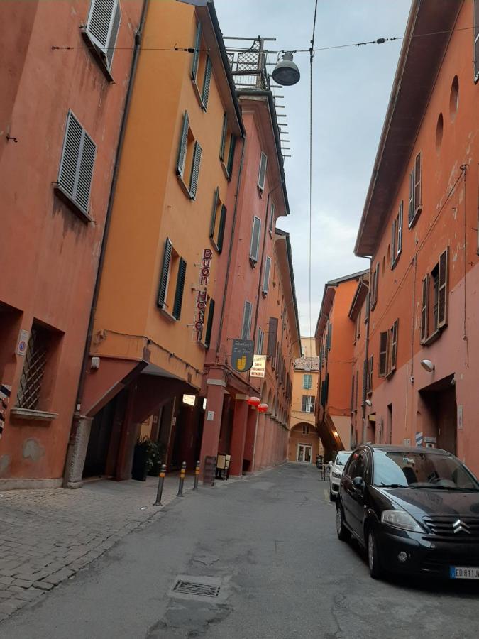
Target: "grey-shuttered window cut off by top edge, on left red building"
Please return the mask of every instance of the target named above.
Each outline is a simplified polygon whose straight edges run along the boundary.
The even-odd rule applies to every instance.
[[[94,46],[94,52],[108,72],[111,71],[113,63],[120,24],[119,0],[92,0],[84,35]]]

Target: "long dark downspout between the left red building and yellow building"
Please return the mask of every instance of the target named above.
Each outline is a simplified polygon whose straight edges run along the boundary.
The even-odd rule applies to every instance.
[[[116,146],[115,163],[113,168],[113,175],[111,178],[108,208],[106,209],[105,228],[103,232],[103,238],[101,239],[101,249],[100,249],[100,256],[98,260],[97,278],[95,280],[93,296],[92,296],[92,310],[90,311],[90,317],[88,322],[87,339],[85,342],[85,348],[83,353],[82,368],[80,371],[80,377],[78,382],[77,400],[75,403],[75,413],[73,415],[72,428],[70,430],[70,440],[68,443],[66,459],[68,459],[70,448],[72,447],[72,443],[75,440],[78,420],[81,417],[82,399],[83,399],[85,381],[87,378],[87,364],[88,364],[90,346],[92,344],[93,324],[94,324],[95,313],[97,311],[101,273],[103,272],[103,267],[104,267],[106,245],[108,244],[108,236],[109,236],[109,230],[110,230],[110,224],[111,224],[111,212],[113,210],[116,185],[118,182],[121,153],[123,151],[123,143],[125,141],[126,121],[128,120],[128,114],[130,112],[131,97],[133,95],[133,84],[135,82],[136,68],[138,66],[138,58],[139,58],[140,50],[141,50],[141,38],[143,35],[143,27],[145,26],[146,13],[148,11],[149,1],[150,0],[143,0],[143,8],[141,10],[140,22],[138,23],[138,29],[136,30],[136,33],[135,33],[135,48],[133,49],[133,57],[131,58],[130,78],[128,80],[128,89],[126,91],[123,116],[121,117],[118,145]]]

